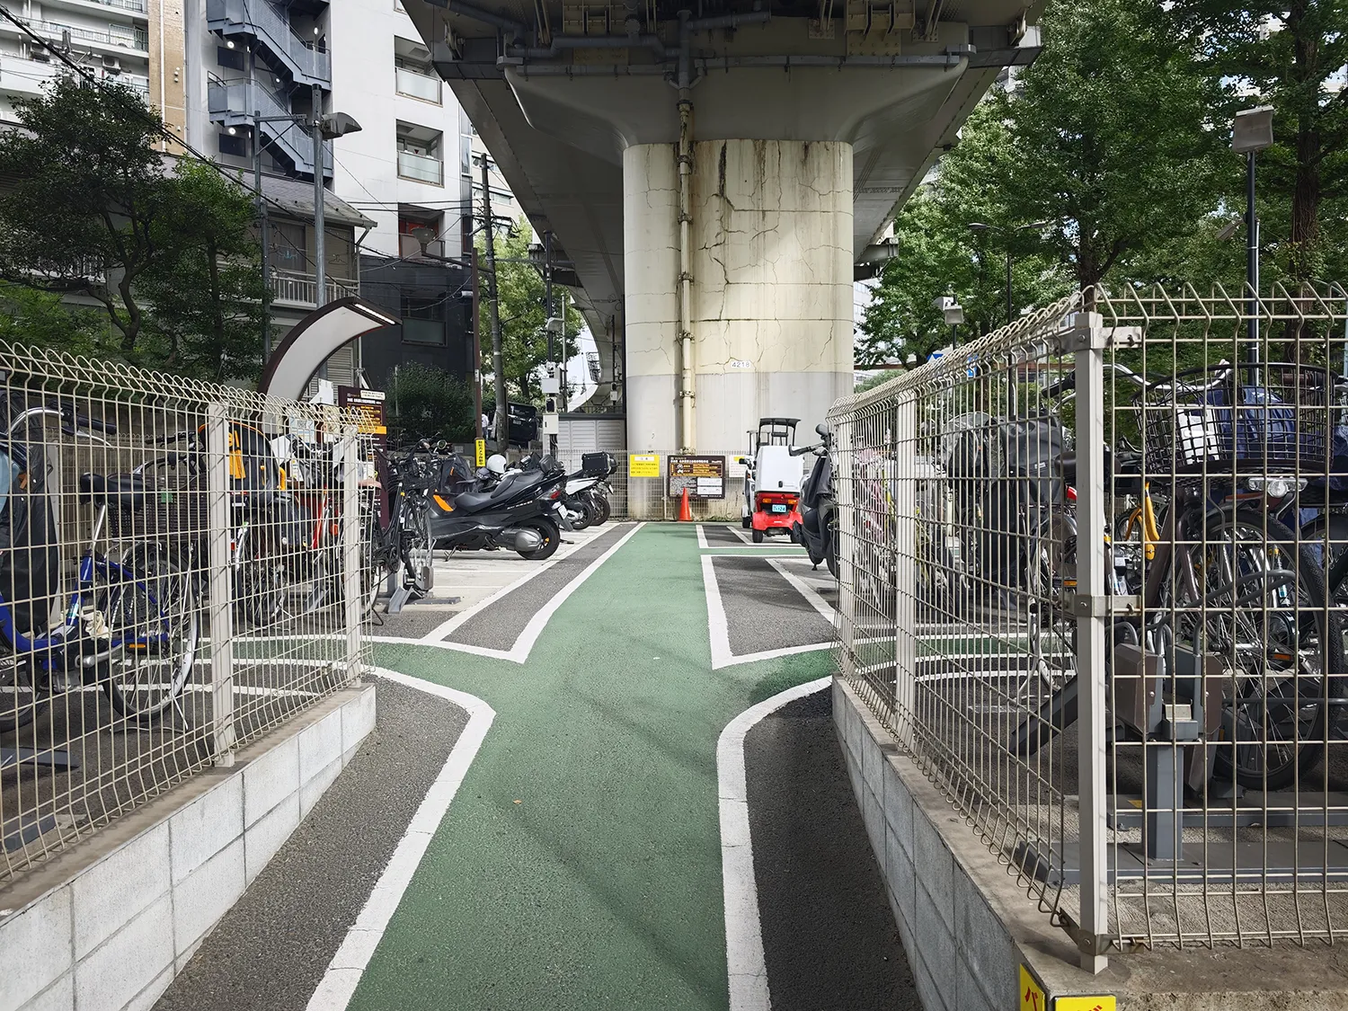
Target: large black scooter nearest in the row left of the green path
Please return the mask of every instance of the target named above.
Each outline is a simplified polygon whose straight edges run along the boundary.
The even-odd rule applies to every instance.
[[[484,491],[431,492],[426,519],[433,547],[481,551],[508,547],[520,558],[551,558],[562,542],[557,520],[566,472],[545,457]]]

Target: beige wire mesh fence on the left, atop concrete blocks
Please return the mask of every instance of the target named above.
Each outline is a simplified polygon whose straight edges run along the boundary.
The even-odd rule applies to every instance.
[[[355,421],[0,345],[0,883],[359,677]]]

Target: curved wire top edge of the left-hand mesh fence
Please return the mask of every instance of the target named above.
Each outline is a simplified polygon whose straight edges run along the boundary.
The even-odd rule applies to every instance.
[[[116,394],[131,394],[166,404],[218,403],[232,412],[299,415],[305,421],[330,426],[357,425],[361,419],[360,411],[355,408],[287,400],[225,383],[137,368],[123,361],[101,361],[51,348],[0,341],[0,381],[12,386],[16,380],[26,386],[74,387],[86,395],[109,395],[108,399],[117,399],[113,396]]]

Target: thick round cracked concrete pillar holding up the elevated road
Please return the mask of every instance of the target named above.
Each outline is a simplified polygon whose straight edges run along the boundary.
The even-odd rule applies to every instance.
[[[678,164],[623,154],[628,449],[678,449]],[[802,441],[852,388],[852,146],[701,140],[693,150],[698,452],[743,452],[760,417]]]

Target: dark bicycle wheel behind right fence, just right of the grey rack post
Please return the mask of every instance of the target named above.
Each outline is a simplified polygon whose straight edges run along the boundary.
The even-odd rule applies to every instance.
[[[1324,569],[1291,530],[1254,510],[1209,516],[1189,561],[1200,601],[1174,592],[1174,635],[1197,644],[1201,634],[1224,667],[1215,775],[1251,790],[1290,786],[1324,758],[1345,694],[1343,625],[1326,607]]]

